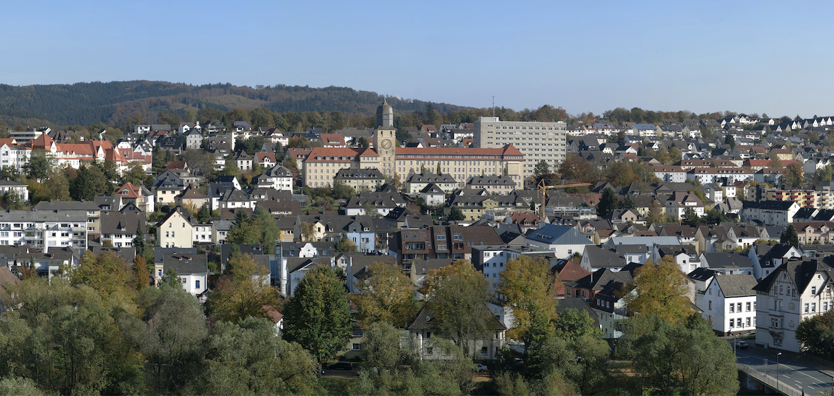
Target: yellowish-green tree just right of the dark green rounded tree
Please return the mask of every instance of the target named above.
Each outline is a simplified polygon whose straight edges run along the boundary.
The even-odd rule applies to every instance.
[[[417,307],[409,277],[394,263],[374,262],[365,271],[367,276],[356,283],[358,292],[351,295],[359,323],[367,327],[382,322],[405,328]]]

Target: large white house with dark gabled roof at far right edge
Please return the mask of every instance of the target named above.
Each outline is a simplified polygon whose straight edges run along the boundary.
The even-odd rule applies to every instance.
[[[801,352],[796,328],[834,307],[830,258],[788,260],[756,285],[756,343]],[[726,275],[725,275],[726,276]]]

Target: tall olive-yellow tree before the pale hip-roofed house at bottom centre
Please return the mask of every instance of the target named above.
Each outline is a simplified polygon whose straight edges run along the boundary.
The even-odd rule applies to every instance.
[[[455,260],[426,275],[420,293],[432,315],[432,328],[470,356],[475,340],[490,333],[495,317],[486,303],[492,297],[489,283],[469,260]]]

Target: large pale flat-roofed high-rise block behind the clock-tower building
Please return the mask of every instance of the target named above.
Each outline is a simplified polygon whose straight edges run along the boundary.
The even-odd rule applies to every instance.
[[[503,148],[512,144],[524,154],[524,177],[533,174],[535,164],[545,160],[550,168],[565,161],[567,124],[538,121],[500,121],[479,117],[475,121],[475,148]]]

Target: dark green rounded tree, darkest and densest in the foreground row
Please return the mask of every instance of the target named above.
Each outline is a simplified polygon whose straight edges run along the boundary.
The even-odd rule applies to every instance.
[[[299,343],[318,360],[344,348],[352,327],[344,283],[327,266],[310,269],[284,303],[284,339]]]

